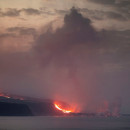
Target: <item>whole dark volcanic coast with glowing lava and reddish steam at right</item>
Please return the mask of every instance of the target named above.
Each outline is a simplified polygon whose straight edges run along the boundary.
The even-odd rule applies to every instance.
[[[71,103],[72,105],[72,103]],[[82,113],[63,101],[31,98],[0,92],[0,116],[120,116],[120,102],[104,102],[100,111]]]

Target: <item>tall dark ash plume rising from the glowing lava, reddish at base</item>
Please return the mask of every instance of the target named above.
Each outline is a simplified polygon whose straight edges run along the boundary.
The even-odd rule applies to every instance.
[[[94,90],[100,70],[96,54],[99,44],[91,20],[74,7],[65,15],[63,27],[40,35],[34,48],[41,67],[48,70],[48,84],[54,98],[81,105],[100,98],[97,89]],[[92,98],[90,91],[97,97]]]

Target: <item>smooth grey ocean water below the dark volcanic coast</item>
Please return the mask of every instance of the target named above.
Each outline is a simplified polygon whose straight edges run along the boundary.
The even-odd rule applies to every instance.
[[[130,116],[121,117],[0,117],[0,130],[130,130]]]

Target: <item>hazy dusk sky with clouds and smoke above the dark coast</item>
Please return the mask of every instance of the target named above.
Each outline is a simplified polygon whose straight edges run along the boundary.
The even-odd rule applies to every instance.
[[[130,113],[129,0],[0,0],[0,91]]]

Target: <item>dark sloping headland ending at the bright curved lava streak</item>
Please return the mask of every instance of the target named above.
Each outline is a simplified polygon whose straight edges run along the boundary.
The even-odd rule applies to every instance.
[[[49,99],[0,93],[0,116],[62,116],[69,113],[65,109],[57,109],[54,102]],[[59,103],[67,106],[64,102]]]

